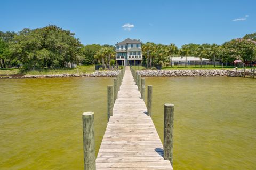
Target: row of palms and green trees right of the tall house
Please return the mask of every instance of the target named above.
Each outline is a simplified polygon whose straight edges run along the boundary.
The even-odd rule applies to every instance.
[[[252,64],[256,60],[256,33],[247,34],[243,38],[232,39],[222,45],[190,43],[178,48],[173,43],[163,45],[147,42],[142,46],[142,55],[146,59],[144,62],[147,62],[149,67],[152,64],[171,65],[173,56],[181,56],[185,59],[187,56],[199,57],[201,67],[203,58],[228,63],[233,63],[234,60],[242,60]]]

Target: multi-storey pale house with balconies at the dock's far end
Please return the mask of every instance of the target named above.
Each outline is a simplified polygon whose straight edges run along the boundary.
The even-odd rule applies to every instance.
[[[116,62],[118,65],[138,65],[142,60],[142,42],[127,38],[116,44]]]

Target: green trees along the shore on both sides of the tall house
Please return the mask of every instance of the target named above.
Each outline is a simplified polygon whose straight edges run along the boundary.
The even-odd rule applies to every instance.
[[[0,31],[0,68],[22,66],[22,69],[70,67],[71,64],[115,64],[115,47],[112,45],[83,45],[74,33],[55,25],[43,28],[25,28],[19,33]],[[150,64],[171,64],[170,56],[197,56],[222,62],[243,62],[256,60],[256,33],[243,38],[232,39],[222,45],[175,44],[142,45],[143,62]],[[201,62],[202,63],[202,62]]]

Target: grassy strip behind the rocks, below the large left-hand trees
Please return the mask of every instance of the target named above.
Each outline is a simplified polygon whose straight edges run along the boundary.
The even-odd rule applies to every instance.
[[[23,72],[25,75],[47,75],[47,74],[73,74],[73,73],[90,73],[95,71],[94,65],[89,66],[77,66],[77,68],[62,68],[62,69],[48,69],[44,68],[42,70]],[[21,73],[20,69],[17,68],[6,68],[0,69],[0,74],[18,74]]]

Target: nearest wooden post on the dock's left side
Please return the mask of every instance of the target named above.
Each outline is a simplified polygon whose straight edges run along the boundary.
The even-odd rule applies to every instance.
[[[94,141],[94,114],[84,112],[83,119],[83,141],[84,141],[84,169],[91,170],[95,167],[95,141]]]

